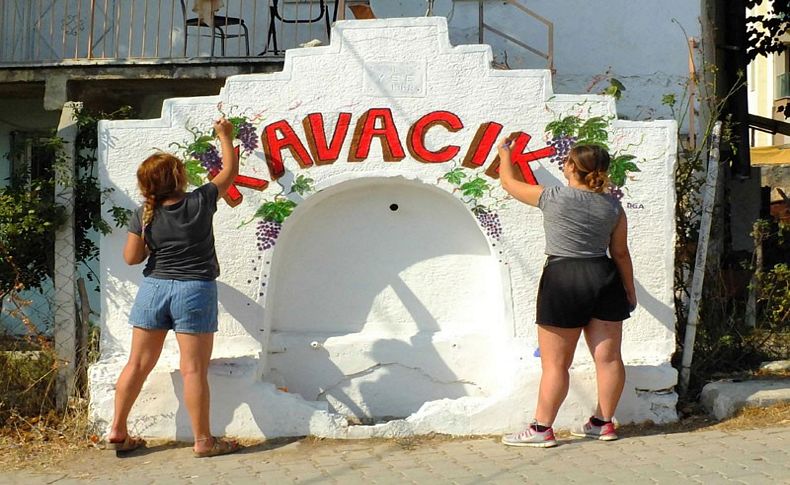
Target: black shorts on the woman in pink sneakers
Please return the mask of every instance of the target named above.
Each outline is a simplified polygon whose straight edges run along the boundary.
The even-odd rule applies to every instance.
[[[577,328],[591,319],[619,322],[630,317],[623,280],[614,261],[549,256],[538,287],[539,325]]]

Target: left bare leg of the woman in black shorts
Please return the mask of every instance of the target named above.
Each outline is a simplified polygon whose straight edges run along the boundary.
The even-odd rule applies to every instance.
[[[576,342],[581,332],[581,328],[538,325],[540,364],[543,368],[535,410],[535,420],[539,424],[551,426],[554,423],[560,405],[568,394],[568,369],[573,363]]]

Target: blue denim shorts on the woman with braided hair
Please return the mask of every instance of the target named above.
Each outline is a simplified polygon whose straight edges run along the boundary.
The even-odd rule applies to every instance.
[[[217,282],[145,277],[137,291],[129,321],[150,330],[179,333],[217,331]]]

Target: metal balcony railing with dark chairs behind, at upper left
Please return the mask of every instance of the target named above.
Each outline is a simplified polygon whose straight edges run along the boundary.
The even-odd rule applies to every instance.
[[[276,58],[327,43],[335,15],[323,0],[0,0],[0,64]]]

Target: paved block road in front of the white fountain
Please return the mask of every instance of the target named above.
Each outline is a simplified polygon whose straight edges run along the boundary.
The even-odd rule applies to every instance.
[[[790,484],[790,427],[560,439],[553,449],[508,448],[494,438],[304,440],[195,459],[154,446],[116,458],[87,450],[57,473],[0,472],[0,484]]]

